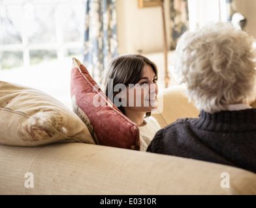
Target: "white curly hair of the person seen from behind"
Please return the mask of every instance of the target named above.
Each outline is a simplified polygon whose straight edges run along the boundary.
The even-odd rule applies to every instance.
[[[199,110],[214,113],[255,98],[255,39],[231,23],[185,32],[175,51],[174,74]]]

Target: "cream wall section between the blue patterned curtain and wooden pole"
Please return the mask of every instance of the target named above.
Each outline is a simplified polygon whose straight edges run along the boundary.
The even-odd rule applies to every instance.
[[[168,1],[165,5],[168,23]],[[138,0],[117,0],[117,21],[119,54],[163,51],[161,6],[138,8]],[[167,34],[170,34],[169,28]]]

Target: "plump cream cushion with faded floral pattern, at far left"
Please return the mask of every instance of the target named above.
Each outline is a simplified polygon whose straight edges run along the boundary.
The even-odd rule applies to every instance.
[[[95,144],[86,125],[57,99],[0,81],[0,144],[40,146],[62,141]]]

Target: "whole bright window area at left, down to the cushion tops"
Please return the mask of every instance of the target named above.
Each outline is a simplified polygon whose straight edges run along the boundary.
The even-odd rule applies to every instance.
[[[71,107],[72,57],[82,60],[84,0],[0,0],[0,80]]]

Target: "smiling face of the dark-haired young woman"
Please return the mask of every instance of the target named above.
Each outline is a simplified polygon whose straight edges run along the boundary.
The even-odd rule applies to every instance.
[[[152,67],[146,64],[140,81],[136,85],[127,86],[125,111],[151,112],[157,109],[157,94],[157,76]]]

